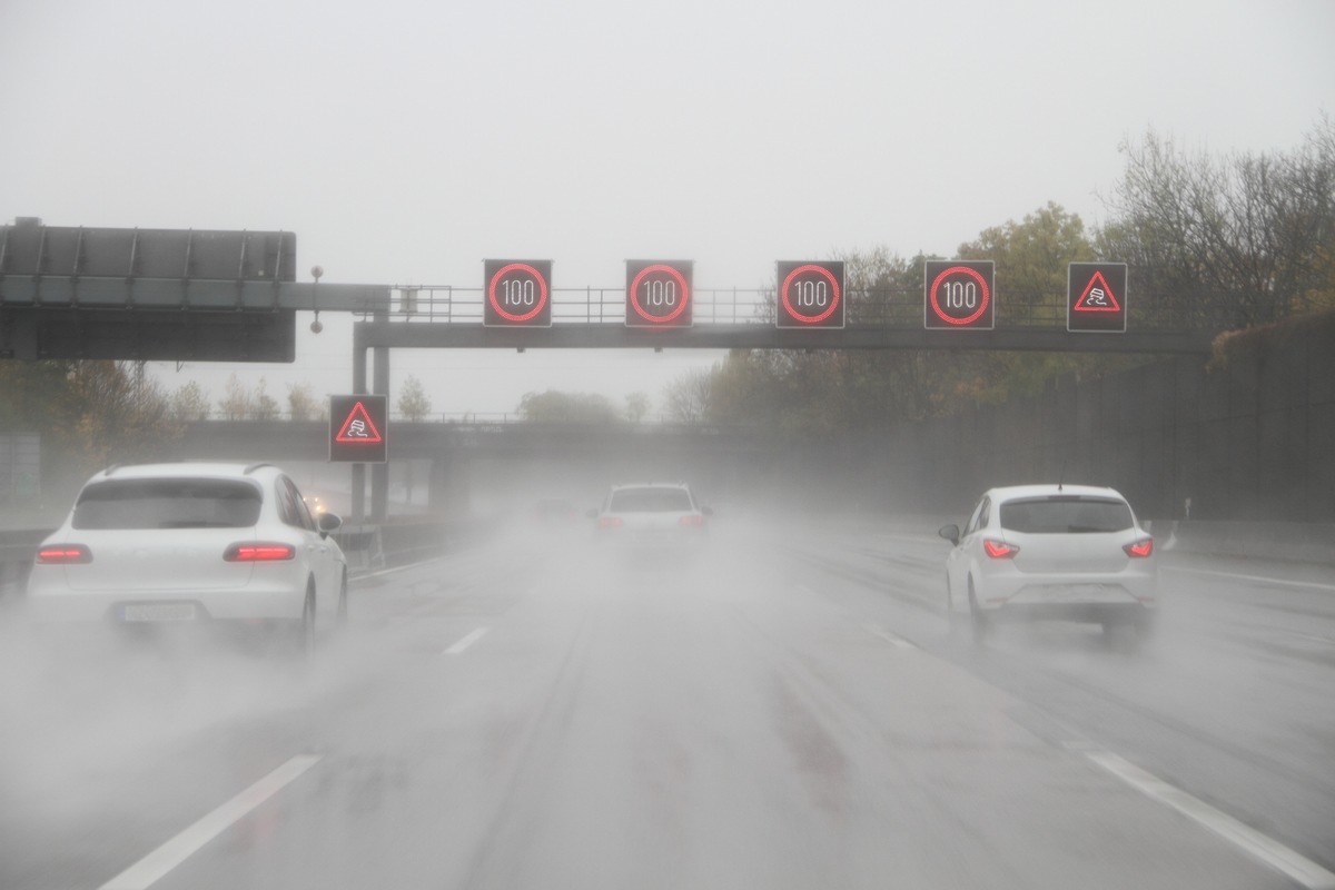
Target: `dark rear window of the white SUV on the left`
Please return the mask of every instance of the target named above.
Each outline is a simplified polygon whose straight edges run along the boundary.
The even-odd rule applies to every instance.
[[[244,528],[260,491],[230,479],[113,479],[83,490],[75,528]]]

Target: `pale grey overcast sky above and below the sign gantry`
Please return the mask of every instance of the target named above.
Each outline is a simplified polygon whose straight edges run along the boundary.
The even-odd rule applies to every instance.
[[[1119,143],[1291,149],[1335,113],[1335,3],[0,0],[0,217],[286,230],[326,282],[557,287],[634,256],[757,287],[778,259],[953,255],[1047,201],[1104,215]],[[308,322],[308,319],[306,319]],[[295,366],[351,386],[351,334]],[[395,352],[441,412],[643,391],[712,356]]]

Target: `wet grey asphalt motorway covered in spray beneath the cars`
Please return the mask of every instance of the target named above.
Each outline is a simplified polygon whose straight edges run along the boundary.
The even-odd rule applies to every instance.
[[[932,528],[527,539],[304,667],[5,612],[0,887],[1335,886],[1328,570],[1165,554],[1148,643],[980,648]]]

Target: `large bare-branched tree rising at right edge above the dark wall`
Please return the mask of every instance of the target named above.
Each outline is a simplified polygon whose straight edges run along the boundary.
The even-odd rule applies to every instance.
[[[1137,290],[1212,327],[1275,322],[1330,294],[1335,124],[1290,153],[1189,155],[1153,132],[1121,147],[1127,168],[1100,232]]]

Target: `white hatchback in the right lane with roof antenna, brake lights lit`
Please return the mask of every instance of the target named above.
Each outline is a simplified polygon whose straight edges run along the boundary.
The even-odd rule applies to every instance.
[[[1000,618],[1133,624],[1148,632],[1159,583],[1153,539],[1127,499],[1091,486],[992,488],[961,531],[940,535],[947,614],[968,614],[977,640]]]

